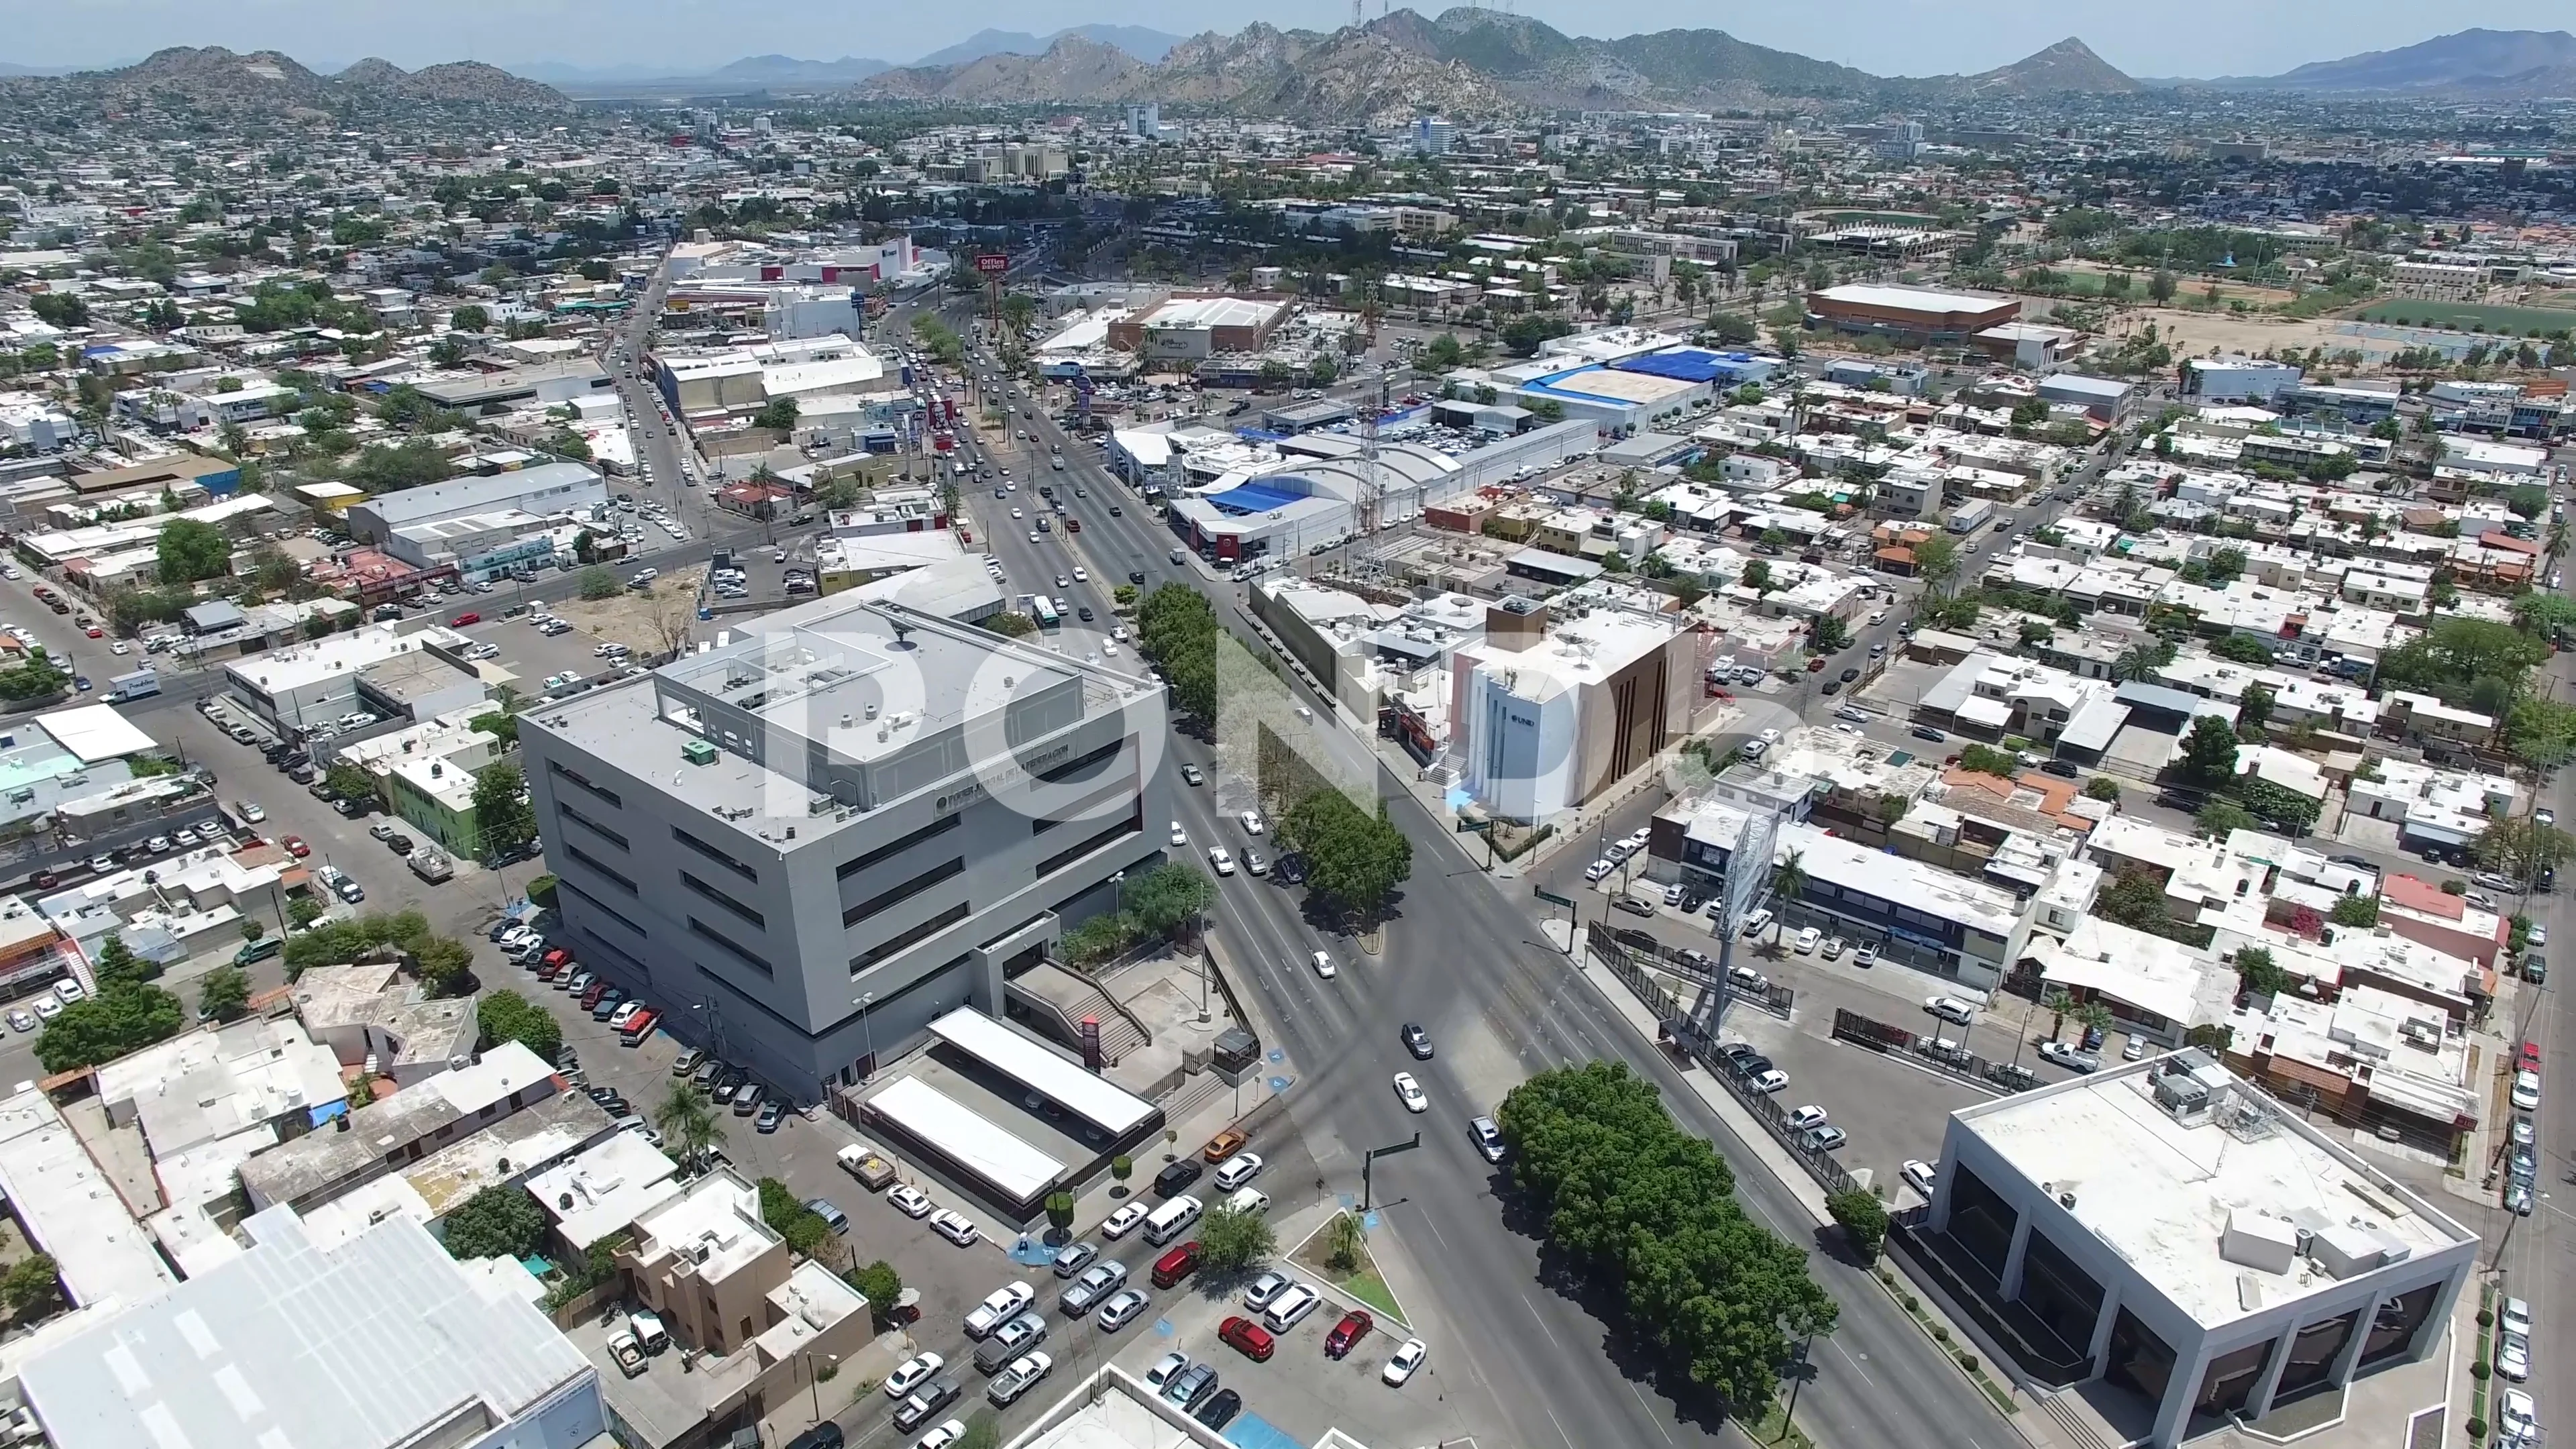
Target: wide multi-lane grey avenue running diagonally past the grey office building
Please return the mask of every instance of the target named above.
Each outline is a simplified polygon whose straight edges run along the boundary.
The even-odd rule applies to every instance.
[[[1036,418],[1023,418],[1033,407]],[[1012,433],[1028,431],[1020,446]],[[1005,441],[1007,438],[1007,441]],[[1046,467],[1051,446],[1066,469]],[[1010,420],[979,443],[992,464],[1010,464],[1020,490],[992,498],[992,485],[969,480],[966,505],[992,539],[1015,593],[1064,593],[1097,614],[1095,632],[1113,624],[1110,590],[1131,570],[1146,588],[1182,583],[1216,603],[1218,616],[1249,647],[1260,647],[1244,619],[1242,590],[1208,572],[1170,562],[1172,536],[1144,503],[1097,467],[1090,449],[1066,438],[1043,407],[1012,397]],[[1082,534],[1041,534],[1028,541],[1023,513],[1038,500],[1030,480],[1087,490],[1066,508]],[[1110,505],[1121,516],[1110,516]],[[1056,588],[1056,575],[1084,567],[1090,580]],[[1066,650],[1097,647],[1082,624],[1064,624]],[[1314,701],[1324,704],[1324,701]],[[1316,712],[1319,719],[1329,709]],[[1180,763],[1216,766],[1195,740],[1177,737]],[[1610,1003],[1569,969],[1533,915],[1533,900],[1510,882],[1486,877],[1476,861],[1391,776],[1381,792],[1396,822],[1414,841],[1414,871],[1383,933],[1383,954],[1370,957],[1350,938],[1324,936],[1301,915],[1293,892],[1267,879],[1218,882],[1216,931],[1226,959],[1260,995],[1291,1088],[1291,1116],[1306,1134],[1334,1189],[1358,1189],[1358,1155],[1422,1132],[1422,1150],[1388,1158],[1376,1176],[1376,1196],[1401,1248],[1425,1266],[1435,1305],[1422,1318],[1437,1333],[1445,1361],[1461,1364],[1492,1395],[1492,1431],[1510,1444],[1692,1444],[1734,1441],[1736,1431],[1708,1415],[1687,1385],[1662,1382],[1641,1366],[1613,1323],[1553,1287],[1540,1243],[1502,1220],[1492,1194],[1494,1173],[1473,1152],[1466,1119],[1492,1111],[1510,1085],[1535,1070],[1589,1060],[1625,1060],[1664,1088],[1677,1119],[1700,1132],[1734,1163],[1754,1158],[1672,1065],[1641,1042]],[[1200,853],[1211,843],[1236,856],[1247,848],[1234,815],[1252,804],[1247,781],[1208,776],[1203,789],[1175,792],[1175,810]],[[1319,980],[1311,951],[1332,951],[1334,980]],[[1432,1031],[1437,1057],[1414,1062],[1396,1029],[1419,1021]],[[1391,1078],[1412,1070],[1432,1096],[1427,1116],[1412,1116],[1394,1098]],[[1790,1191],[1757,1168],[1739,1176],[1739,1196],[1759,1222],[1808,1245],[1814,1220]],[[1914,1446],[1937,1423],[1942,1441],[2007,1444],[2012,1428],[1984,1395],[1870,1284],[1860,1269],[1816,1253],[1814,1271],[1842,1302],[1842,1328],[1816,1351],[1816,1379],[1798,1415],[1839,1449]],[[1419,1312],[1419,1310],[1417,1310]]]

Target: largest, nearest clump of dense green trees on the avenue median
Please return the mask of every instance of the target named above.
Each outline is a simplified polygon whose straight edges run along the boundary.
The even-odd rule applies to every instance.
[[[1759,1418],[1790,1343],[1837,1305],[1806,1253],[1744,1214],[1736,1181],[1625,1062],[1540,1073],[1497,1111],[1548,1240],[1607,1281],[1628,1328]]]

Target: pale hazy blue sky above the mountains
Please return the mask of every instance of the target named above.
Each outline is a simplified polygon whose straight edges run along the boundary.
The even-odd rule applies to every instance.
[[[440,59],[670,64],[711,70],[744,54],[842,54],[907,62],[994,26],[1048,34],[1110,21],[1172,34],[1247,21],[1329,28],[1350,10],[1314,0],[984,0],[971,8],[889,0],[13,0],[0,62],[113,64],[175,44],[281,49],[312,64],[379,54]],[[1437,8],[1417,5],[1425,13]],[[2269,75],[2311,59],[2391,49],[2470,26],[2566,28],[2566,0],[1522,0],[1569,34],[1618,36],[1710,26],[1747,41],[1857,64],[1940,75],[2007,64],[2069,34],[2130,75]],[[1376,15],[1370,0],[1368,13]],[[2329,23],[2321,23],[2331,18]]]

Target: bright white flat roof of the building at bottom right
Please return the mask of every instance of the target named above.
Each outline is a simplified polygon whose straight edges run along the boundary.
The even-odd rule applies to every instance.
[[[2306,1261],[2269,1274],[2226,1258],[2221,1240],[2231,1217],[2290,1220],[2316,1232],[2354,1230],[2398,1256],[2476,1245],[2476,1235],[2388,1173],[2277,1111],[2215,1065],[2202,1075],[2226,1083],[2223,1106],[2197,1116],[2169,1114],[2156,1104],[2151,1073],[2182,1057],[2074,1078],[1963,1109],[1955,1119],[2032,1183],[2074,1194],[2069,1217],[2202,1328],[2321,1287]],[[2251,1294],[2246,1279],[2254,1281]]]

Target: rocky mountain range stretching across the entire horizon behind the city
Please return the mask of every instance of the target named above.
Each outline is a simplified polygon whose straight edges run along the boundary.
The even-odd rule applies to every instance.
[[[75,98],[93,103],[180,101],[201,111],[307,111],[507,106],[562,108],[556,77],[582,93],[708,88],[729,93],[799,88],[860,98],[956,103],[1172,101],[1239,113],[1334,124],[1401,121],[1425,111],[1466,121],[1543,111],[1718,108],[1762,98],[1878,101],[1888,106],[1963,98],[2128,95],[2148,88],[2267,93],[2424,95],[2445,101],[2540,101],[2576,95],[2576,36],[2568,31],[2458,31],[2421,44],[2300,64],[2282,75],[2138,80],[2081,39],[1976,75],[1878,77],[1865,70],[1757,46],[1726,31],[1566,36],[1502,10],[1440,15],[1391,10],[1334,31],[1252,23],[1190,39],[1141,26],[1072,26],[1051,36],[981,31],[914,64],[866,57],[744,57],[696,77],[659,67],[523,67],[528,75],[451,62],[399,70],[363,59],[319,75],[278,52],[234,54],[175,46],[95,72],[0,64],[0,103]]]

